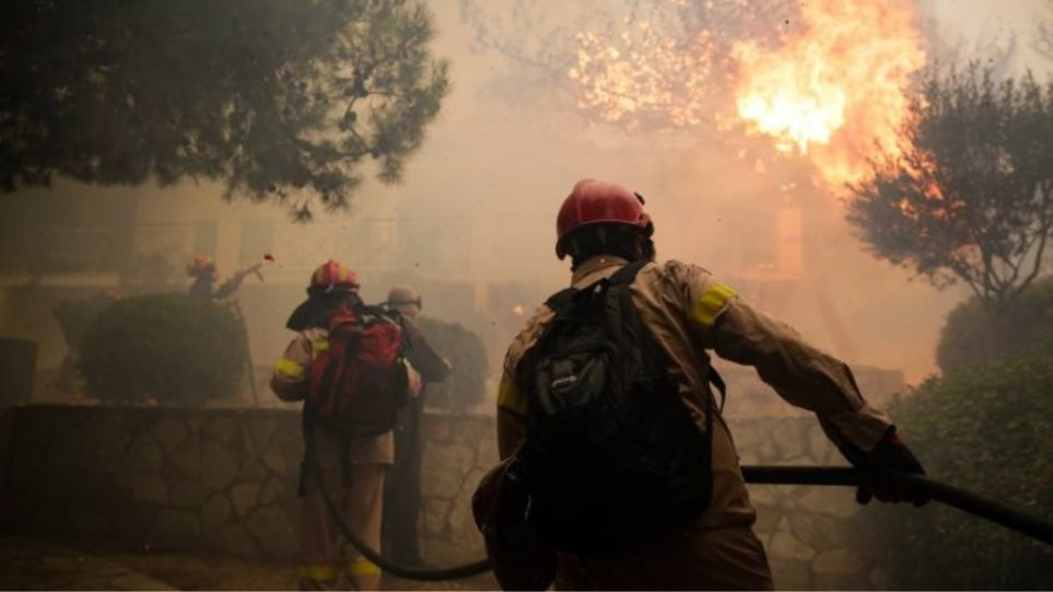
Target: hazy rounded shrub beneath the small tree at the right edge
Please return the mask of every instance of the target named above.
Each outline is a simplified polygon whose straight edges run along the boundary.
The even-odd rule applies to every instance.
[[[1053,278],[1028,287],[1002,314],[975,298],[958,305],[944,326],[936,360],[950,372],[1036,349],[1053,356]]]

